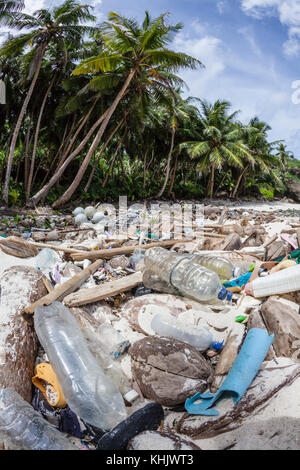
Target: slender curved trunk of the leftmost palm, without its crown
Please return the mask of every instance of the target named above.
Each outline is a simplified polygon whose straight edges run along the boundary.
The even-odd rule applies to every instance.
[[[3,202],[6,205],[8,204],[9,178],[10,178],[10,175],[11,175],[12,162],[13,162],[13,158],[14,158],[14,154],[15,154],[15,148],[16,148],[16,144],[17,144],[18,135],[19,135],[19,132],[20,132],[20,129],[21,129],[23,118],[24,118],[26,110],[27,110],[28,103],[30,101],[30,98],[32,96],[36,81],[37,81],[39,73],[40,73],[40,69],[41,69],[41,65],[42,65],[42,59],[43,59],[46,47],[47,47],[47,43],[44,43],[41,47],[41,53],[39,55],[39,58],[38,58],[38,61],[37,61],[37,64],[36,64],[35,73],[34,73],[32,82],[30,84],[28,93],[26,95],[26,98],[23,102],[23,105],[22,105],[22,108],[21,108],[21,111],[20,111],[20,114],[19,114],[19,117],[18,117],[18,120],[17,120],[17,124],[16,124],[15,130],[14,130],[14,133],[13,133],[13,137],[12,137],[12,141],[11,141],[11,145],[10,145],[9,156],[8,156],[7,168],[6,168],[4,188],[3,188]]]

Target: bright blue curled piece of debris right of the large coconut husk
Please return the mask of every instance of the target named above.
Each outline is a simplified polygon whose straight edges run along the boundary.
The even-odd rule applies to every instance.
[[[269,336],[267,330],[252,328],[218,392],[215,395],[197,393],[192,398],[188,398],[185,402],[187,412],[192,415],[217,416],[219,412],[211,407],[225,396],[230,396],[236,405],[259,371],[274,337],[274,334]],[[195,403],[199,399],[202,401]]]

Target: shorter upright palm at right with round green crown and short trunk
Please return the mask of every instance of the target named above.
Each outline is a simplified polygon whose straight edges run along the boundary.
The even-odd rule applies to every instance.
[[[237,112],[228,115],[230,103],[216,101],[209,104],[201,101],[202,119],[200,120],[199,140],[181,144],[192,158],[200,157],[200,170],[210,168],[208,182],[209,197],[213,197],[215,170],[221,169],[224,162],[229,165],[242,167],[242,157],[251,158],[248,148],[244,145],[240,129],[234,121]]]

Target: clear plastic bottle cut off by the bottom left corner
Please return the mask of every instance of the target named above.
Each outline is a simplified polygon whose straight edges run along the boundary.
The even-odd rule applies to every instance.
[[[77,450],[12,388],[0,389],[0,442],[12,450]]]

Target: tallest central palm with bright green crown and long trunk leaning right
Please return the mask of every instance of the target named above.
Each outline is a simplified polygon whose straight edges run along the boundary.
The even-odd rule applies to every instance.
[[[195,69],[200,61],[181,52],[167,49],[172,35],[182,29],[182,24],[175,26],[166,23],[167,14],[151,20],[146,12],[140,26],[136,20],[128,19],[116,13],[109,14],[109,21],[102,23],[99,30],[101,52],[96,57],[84,61],[74,72],[79,74],[99,74],[90,82],[95,89],[105,90],[115,87],[118,90],[100,129],[98,130],[79,172],[67,191],[53,204],[59,207],[67,202],[80,184],[89,162],[98,147],[104,131],[119,103],[136,82],[143,82],[153,92],[168,90],[180,79],[175,75],[167,80],[165,72],[175,73],[180,68]]]

